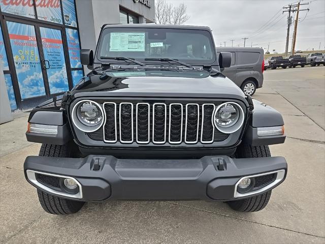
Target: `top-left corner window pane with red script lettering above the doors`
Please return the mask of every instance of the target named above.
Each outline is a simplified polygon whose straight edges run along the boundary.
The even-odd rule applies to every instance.
[[[16,14],[28,18],[35,19],[34,4],[33,1],[0,1],[1,11],[8,14]]]

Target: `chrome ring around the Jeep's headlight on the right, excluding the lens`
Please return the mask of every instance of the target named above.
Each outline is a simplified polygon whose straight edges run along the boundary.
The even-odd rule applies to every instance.
[[[223,107],[224,105],[226,105],[226,104],[231,104],[234,107],[236,107],[237,110],[239,111],[239,117],[236,119],[236,121],[235,121],[235,123],[233,125],[230,125],[228,127],[222,127],[222,126],[220,126],[219,124],[216,123],[215,117],[216,117],[217,112],[219,111],[219,109],[221,107]],[[225,134],[231,134],[231,133],[234,133],[234,132],[238,131],[243,126],[244,120],[245,120],[244,118],[245,118],[245,116],[244,116],[244,110],[243,110],[243,108],[238,103],[235,103],[235,102],[226,102],[226,103],[220,104],[214,110],[213,116],[212,116],[212,124],[220,132],[225,133]]]

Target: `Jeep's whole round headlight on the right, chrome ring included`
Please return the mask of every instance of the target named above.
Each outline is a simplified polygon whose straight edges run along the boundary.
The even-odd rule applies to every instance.
[[[222,133],[238,131],[244,123],[244,110],[234,102],[219,105],[212,117],[214,126]]]

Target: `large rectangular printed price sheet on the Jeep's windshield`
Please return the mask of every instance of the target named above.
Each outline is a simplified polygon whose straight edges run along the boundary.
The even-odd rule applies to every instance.
[[[111,52],[144,52],[144,33],[111,33]]]

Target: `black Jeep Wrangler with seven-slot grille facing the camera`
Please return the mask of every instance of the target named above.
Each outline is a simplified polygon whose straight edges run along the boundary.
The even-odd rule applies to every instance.
[[[285,179],[271,157],[285,140],[283,119],[220,73],[208,27],[104,25],[81,50],[92,71],[30,113],[28,141],[42,143],[24,163],[51,214],[86,201],[224,201],[258,211]]]

